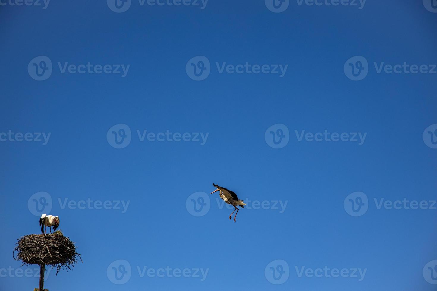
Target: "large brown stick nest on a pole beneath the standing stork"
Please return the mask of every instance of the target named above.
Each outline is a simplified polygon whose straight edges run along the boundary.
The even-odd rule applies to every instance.
[[[64,268],[70,270],[78,259],[82,261],[80,253],[76,253],[76,246],[59,230],[50,234],[22,236],[14,249],[14,260],[21,260],[24,264],[49,265],[52,269],[56,267],[56,274]]]

